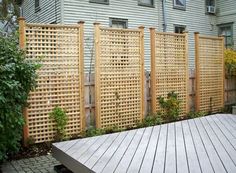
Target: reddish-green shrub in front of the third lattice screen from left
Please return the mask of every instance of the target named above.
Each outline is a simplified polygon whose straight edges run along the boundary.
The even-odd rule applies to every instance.
[[[158,97],[160,107],[163,109],[163,118],[166,121],[174,121],[179,118],[180,114],[180,100],[178,94],[174,91],[167,94],[167,99]]]

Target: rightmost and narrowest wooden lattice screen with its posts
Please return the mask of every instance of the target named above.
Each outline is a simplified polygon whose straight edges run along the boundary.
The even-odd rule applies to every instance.
[[[219,112],[224,107],[224,39],[195,33],[196,110]]]

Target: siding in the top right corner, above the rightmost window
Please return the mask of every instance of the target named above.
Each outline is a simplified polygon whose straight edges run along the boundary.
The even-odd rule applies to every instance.
[[[217,1],[217,24],[233,23],[234,48],[236,49],[236,0]]]

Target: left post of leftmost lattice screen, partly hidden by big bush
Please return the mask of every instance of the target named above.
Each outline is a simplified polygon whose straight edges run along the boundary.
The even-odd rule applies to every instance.
[[[19,21],[19,44],[20,44],[20,48],[22,50],[25,50],[25,40],[26,40],[26,36],[25,36],[25,18],[23,17],[19,17],[18,18]],[[28,111],[27,108],[25,107],[23,110],[23,115],[24,115],[24,119],[25,119],[25,124],[23,127],[23,144],[24,146],[27,146],[27,140],[29,138],[29,128],[28,128]]]

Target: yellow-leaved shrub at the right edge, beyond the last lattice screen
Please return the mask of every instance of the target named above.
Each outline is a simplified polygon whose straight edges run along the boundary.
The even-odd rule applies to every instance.
[[[228,75],[236,75],[236,51],[226,49],[224,51],[226,73]]]

